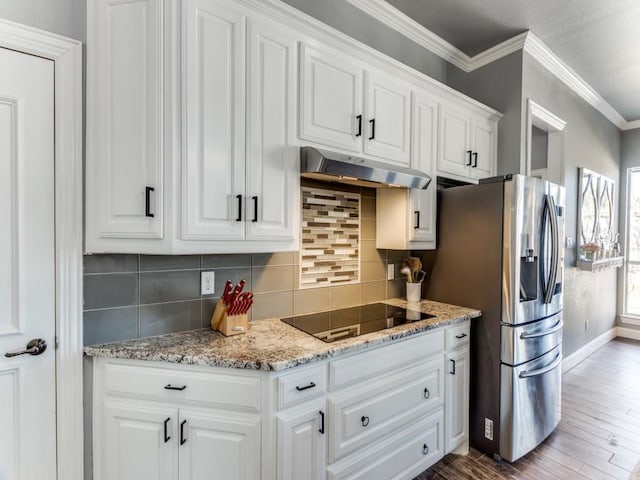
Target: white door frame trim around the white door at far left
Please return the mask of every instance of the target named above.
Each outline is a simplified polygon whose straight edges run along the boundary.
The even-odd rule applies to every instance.
[[[0,19],[0,46],[55,62],[57,473],[81,480],[82,43]]]

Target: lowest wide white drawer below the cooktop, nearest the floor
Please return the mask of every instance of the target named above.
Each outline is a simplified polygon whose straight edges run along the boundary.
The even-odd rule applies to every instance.
[[[406,479],[444,456],[442,409],[370,448],[330,465],[329,480]]]

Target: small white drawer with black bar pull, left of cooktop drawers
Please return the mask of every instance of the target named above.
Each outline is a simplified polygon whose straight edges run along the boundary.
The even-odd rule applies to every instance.
[[[316,365],[276,379],[278,408],[287,408],[324,395],[327,391],[327,365]]]

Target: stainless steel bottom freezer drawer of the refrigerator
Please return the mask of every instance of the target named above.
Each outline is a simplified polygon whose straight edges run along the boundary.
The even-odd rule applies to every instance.
[[[561,346],[517,367],[501,365],[500,456],[513,462],[560,422]]]

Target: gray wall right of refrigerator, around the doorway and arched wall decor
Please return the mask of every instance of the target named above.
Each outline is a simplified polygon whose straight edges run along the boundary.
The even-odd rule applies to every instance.
[[[523,58],[522,104],[526,112],[531,98],[564,121],[564,178],[566,188],[566,235],[576,238],[578,167],[605,175],[620,185],[621,134],[609,120],[529,54]],[[523,125],[520,138],[524,139]],[[616,324],[617,272],[579,271],[575,249],[565,249],[564,354],[570,355]],[[589,330],[585,330],[585,321]]]

